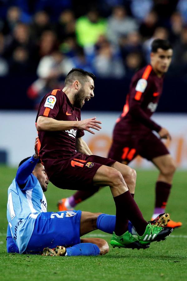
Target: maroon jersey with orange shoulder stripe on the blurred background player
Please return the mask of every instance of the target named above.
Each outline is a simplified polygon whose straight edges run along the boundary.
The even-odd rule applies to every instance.
[[[121,116],[117,119],[115,133],[132,134],[160,131],[161,126],[150,119],[156,110],[163,87],[163,77],[159,78],[151,65],[141,68],[132,77],[130,90]]]

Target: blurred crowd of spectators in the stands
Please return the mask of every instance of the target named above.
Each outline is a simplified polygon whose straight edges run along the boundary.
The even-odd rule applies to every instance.
[[[131,77],[154,38],[173,45],[169,74],[187,72],[187,0],[0,0],[0,76],[36,73],[31,98],[61,88],[72,67]]]

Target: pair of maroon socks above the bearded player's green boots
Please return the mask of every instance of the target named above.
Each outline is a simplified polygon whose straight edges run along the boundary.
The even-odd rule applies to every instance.
[[[142,235],[145,232],[147,222],[143,218],[136,202],[129,191],[114,197],[116,204],[116,226],[115,234],[120,236],[127,231],[128,219],[136,228],[137,233]],[[128,219],[127,219],[128,218]]]

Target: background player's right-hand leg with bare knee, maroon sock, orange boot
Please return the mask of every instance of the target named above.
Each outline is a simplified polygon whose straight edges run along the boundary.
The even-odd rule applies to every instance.
[[[176,166],[175,161],[170,154],[155,157],[152,159],[152,162],[160,171],[156,182],[156,200],[153,214],[153,218],[155,218],[158,213],[160,214],[165,212]],[[172,228],[179,227],[181,225],[182,223],[174,222],[172,220],[168,223],[168,226]]]

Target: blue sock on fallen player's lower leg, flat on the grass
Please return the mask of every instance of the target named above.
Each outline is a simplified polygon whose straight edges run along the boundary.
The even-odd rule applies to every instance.
[[[66,248],[67,256],[98,256],[100,250],[92,243],[80,243]]]

